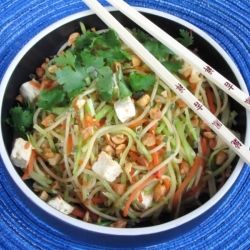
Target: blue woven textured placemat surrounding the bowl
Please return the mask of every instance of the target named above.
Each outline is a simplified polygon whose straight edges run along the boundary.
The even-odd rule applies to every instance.
[[[145,0],[130,4],[179,16],[210,34],[250,83],[249,0]],[[0,80],[22,46],[43,28],[86,9],[80,0],[0,0]],[[249,87],[250,85],[248,85]],[[147,249],[250,249],[250,168],[200,226]],[[96,249],[48,227],[15,195],[0,164],[0,249]]]

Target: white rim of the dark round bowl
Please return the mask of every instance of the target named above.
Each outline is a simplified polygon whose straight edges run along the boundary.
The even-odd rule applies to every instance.
[[[115,11],[117,9],[113,7],[106,7],[109,11]],[[189,29],[192,29],[195,33],[199,34],[203,39],[205,39],[207,42],[209,42],[225,59],[225,61],[230,66],[231,70],[233,71],[234,75],[236,76],[240,87],[242,90],[246,93],[248,93],[247,85],[244,82],[243,77],[240,74],[239,69],[237,68],[236,64],[233,62],[233,60],[229,57],[229,55],[225,52],[225,50],[215,41],[213,38],[211,38],[207,33],[202,31],[200,28],[194,26],[193,24],[189,23],[188,21],[185,21],[177,16],[165,13],[163,11],[158,11],[155,9],[150,8],[144,8],[144,7],[136,7],[137,10],[153,14],[156,16],[160,16],[172,21],[175,21]],[[88,15],[92,15],[94,12],[90,10],[81,11],[69,16],[66,16],[45,29],[41,30],[37,35],[35,35],[32,39],[30,39],[25,46],[16,54],[14,59],[11,61],[10,65],[8,66],[1,84],[0,84],[0,112],[2,114],[2,104],[3,104],[3,97],[5,94],[6,87],[8,85],[8,82],[10,80],[10,77],[15,70],[16,66],[20,62],[20,60],[23,58],[23,56],[37,43],[39,42],[43,37],[48,35],[50,32],[54,31],[55,29],[61,27],[64,24],[67,24],[71,21],[74,21],[78,18],[82,18]],[[218,203],[223,196],[229,191],[229,189],[233,186],[235,183],[237,177],[239,176],[243,166],[244,162],[242,160],[239,160],[236,164],[236,167],[234,171],[232,172],[229,179],[226,181],[226,183],[223,185],[223,187],[206,203],[204,203],[199,208],[195,209],[194,211],[179,217],[175,220],[165,222],[160,225],[156,226],[150,226],[150,227],[142,227],[142,228],[109,228],[104,227],[100,225],[90,224],[84,221],[80,221],[78,219],[72,218],[70,216],[64,215],[61,212],[55,210],[54,208],[50,207],[47,203],[42,201],[26,184],[24,181],[22,181],[21,177],[18,175],[17,171],[15,170],[15,167],[10,161],[9,155],[7,153],[7,150],[5,148],[4,142],[3,142],[3,134],[2,134],[2,116],[0,116],[0,122],[1,122],[1,129],[0,129],[0,148],[1,148],[1,158],[3,160],[3,163],[10,174],[11,178],[14,180],[16,185],[20,188],[20,190],[25,194],[25,196],[31,200],[33,203],[35,203],[39,208],[44,210],[46,213],[49,213],[51,216],[56,217],[59,221],[65,222],[67,224],[70,224],[71,226],[75,226],[82,230],[91,231],[94,233],[102,233],[107,235],[116,235],[116,236],[138,236],[138,235],[147,235],[147,234],[155,234],[167,230],[171,230],[174,228],[177,228],[181,225],[184,225],[193,219],[201,216],[206,211],[208,211],[211,207],[213,207],[216,203]],[[246,112],[246,135],[245,135],[245,144],[249,147],[250,145],[250,113]]]

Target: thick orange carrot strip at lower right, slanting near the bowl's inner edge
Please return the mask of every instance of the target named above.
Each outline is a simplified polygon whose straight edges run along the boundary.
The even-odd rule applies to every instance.
[[[185,191],[186,187],[188,186],[188,184],[190,183],[192,178],[197,173],[197,170],[199,169],[199,167],[202,166],[202,164],[203,164],[202,158],[199,156],[196,156],[189,173],[187,174],[186,178],[184,179],[184,181],[181,183],[181,185],[178,187],[178,189],[175,192],[174,200],[173,200],[173,207],[174,208],[178,207],[178,204],[181,201],[181,197],[182,197],[183,192]]]

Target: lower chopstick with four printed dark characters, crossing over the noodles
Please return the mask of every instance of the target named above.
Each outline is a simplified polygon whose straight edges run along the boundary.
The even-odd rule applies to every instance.
[[[120,39],[145,62],[161,80],[168,85],[207,125],[238,154],[250,164],[249,149],[215,117],[181,82],[173,76],[122,24],[120,24],[97,0],[84,0],[90,9]]]

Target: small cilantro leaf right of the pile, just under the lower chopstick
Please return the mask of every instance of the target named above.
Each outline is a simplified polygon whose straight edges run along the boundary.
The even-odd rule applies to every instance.
[[[154,86],[155,76],[151,74],[143,75],[136,72],[132,72],[129,75],[129,82],[133,91],[147,91]]]

